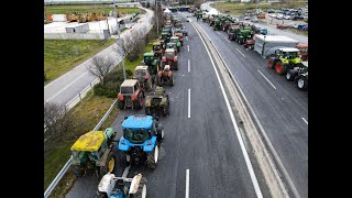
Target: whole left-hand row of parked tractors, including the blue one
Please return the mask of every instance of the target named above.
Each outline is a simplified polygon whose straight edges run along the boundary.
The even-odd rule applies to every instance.
[[[169,114],[169,98],[163,86],[174,85],[178,53],[184,45],[184,35],[187,35],[177,16],[165,15],[164,20],[153,51],[143,54],[143,65],[135,67],[132,79],[125,79],[118,94],[120,110],[141,110],[144,106],[145,114],[125,117],[120,139],[112,128],[108,128],[81,135],[70,147],[74,174],[82,177],[94,170],[101,178],[97,197],[146,197],[145,177],[141,174],[133,178],[117,177],[114,172],[128,166],[142,165],[153,169],[157,166],[164,139],[158,118]]]

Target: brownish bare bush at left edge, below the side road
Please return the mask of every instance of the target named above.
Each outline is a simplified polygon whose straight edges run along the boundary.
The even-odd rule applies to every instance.
[[[64,105],[44,102],[44,153],[72,129],[72,113]]]

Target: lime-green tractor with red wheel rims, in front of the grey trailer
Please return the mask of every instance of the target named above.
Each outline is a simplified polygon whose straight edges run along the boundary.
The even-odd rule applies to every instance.
[[[270,57],[267,66],[268,68],[275,68],[278,75],[285,75],[289,69],[301,67],[299,50],[292,47],[276,50],[275,54]]]

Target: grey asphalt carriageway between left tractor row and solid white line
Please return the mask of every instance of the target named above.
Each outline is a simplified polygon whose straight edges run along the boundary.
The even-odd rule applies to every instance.
[[[256,197],[210,58],[195,29],[189,23],[185,26],[189,35],[182,47],[175,85],[165,86],[170,116],[160,120],[165,139],[158,165],[154,170],[132,167],[129,177],[146,176],[147,196],[153,198],[185,197],[187,169],[191,198]],[[112,123],[114,131],[121,135],[122,119],[136,113],[144,109],[122,110]],[[91,175],[79,178],[66,197],[94,197],[98,183]]]

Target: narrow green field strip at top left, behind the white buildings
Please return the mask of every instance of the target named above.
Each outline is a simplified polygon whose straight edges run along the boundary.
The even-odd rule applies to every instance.
[[[85,6],[47,6],[46,13],[51,14],[66,14],[66,13],[86,13],[86,12],[96,12],[96,13],[109,13],[113,12],[113,8],[110,8],[109,4],[85,4]],[[144,13],[144,10],[139,8],[117,8],[118,13]]]

